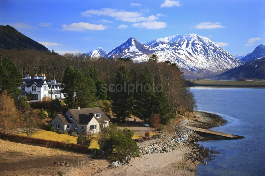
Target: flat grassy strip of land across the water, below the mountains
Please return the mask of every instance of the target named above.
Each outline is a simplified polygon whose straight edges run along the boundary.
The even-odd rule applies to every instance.
[[[265,86],[265,81],[190,80],[190,86]]]

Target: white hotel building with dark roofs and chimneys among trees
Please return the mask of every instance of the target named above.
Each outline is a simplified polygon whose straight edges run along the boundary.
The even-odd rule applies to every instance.
[[[41,102],[44,98],[47,99],[63,99],[62,86],[56,83],[55,80],[46,82],[45,74],[35,74],[33,78],[26,74],[22,79],[23,85],[18,87],[22,89],[20,97],[26,97],[28,101]],[[30,96],[29,96],[30,95]],[[31,99],[29,99],[31,97]]]

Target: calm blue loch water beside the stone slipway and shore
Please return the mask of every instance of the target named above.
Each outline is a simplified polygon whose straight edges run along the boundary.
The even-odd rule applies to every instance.
[[[216,131],[244,136],[241,140],[199,142],[219,151],[197,166],[196,175],[265,175],[265,88],[192,87],[197,110],[228,120]]]

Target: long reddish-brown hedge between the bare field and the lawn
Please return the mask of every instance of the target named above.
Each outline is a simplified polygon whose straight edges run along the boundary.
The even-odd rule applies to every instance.
[[[66,144],[66,143],[59,142],[59,141],[50,141],[50,140],[39,139],[39,138],[31,138],[31,137],[20,136],[20,135],[15,135],[15,134],[0,133],[0,138],[2,140],[8,140],[12,142],[20,142],[20,143],[32,144],[32,145],[43,146],[43,147],[59,148],[59,149],[82,152],[82,153],[88,153],[92,151],[88,147],[85,147],[79,144],[74,144],[74,143]]]

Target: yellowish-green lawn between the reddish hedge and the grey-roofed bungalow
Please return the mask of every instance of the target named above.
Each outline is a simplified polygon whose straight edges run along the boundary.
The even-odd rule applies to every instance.
[[[20,133],[18,135],[27,136],[26,133]],[[46,130],[39,130],[36,133],[34,133],[32,138],[39,138],[39,139],[46,139],[51,141],[64,141],[66,143],[75,143],[77,137],[70,136],[69,134],[59,134],[52,131],[46,131]],[[89,148],[97,148],[99,149],[99,144],[97,140],[93,139],[92,144],[89,146]]]

